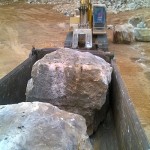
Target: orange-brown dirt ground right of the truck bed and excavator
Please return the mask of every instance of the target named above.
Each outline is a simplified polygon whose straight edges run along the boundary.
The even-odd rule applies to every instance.
[[[108,15],[108,24],[123,24],[135,15],[150,18],[149,9]],[[116,62],[136,112],[150,141],[150,42],[131,45],[113,44],[112,31],[108,32],[109,50],[115,53]]]

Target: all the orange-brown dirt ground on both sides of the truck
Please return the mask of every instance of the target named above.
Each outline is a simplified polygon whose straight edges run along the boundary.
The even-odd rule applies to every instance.
[[[149,9],[108,14],[108,24],[123,24],[134,15],[150,18]],[[32,46],[63,47],[69,18],[49,5],[13,4],[0,7],[0,78],[25,60]],[[150,140],[150,43],[113,44],[108,31],[109,49]]]

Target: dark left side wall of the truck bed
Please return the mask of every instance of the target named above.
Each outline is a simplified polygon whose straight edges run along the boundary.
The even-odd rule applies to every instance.
[[[31,77],[31,69],[35,61],[34,55],[0,80],[0,105],[25,101],[26,85]]]

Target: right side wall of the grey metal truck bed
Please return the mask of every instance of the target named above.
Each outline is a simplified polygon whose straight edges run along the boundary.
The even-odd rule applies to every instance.
[[[149,143],[116,63],[112,61],[111,106],[121,150],[148,150]]]

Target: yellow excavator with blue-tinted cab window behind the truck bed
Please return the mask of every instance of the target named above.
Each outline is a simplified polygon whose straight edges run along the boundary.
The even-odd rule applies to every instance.
[[[65,47],[108,50],[106,6],[80,0],[79,14],[70,17]]]

